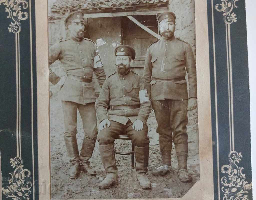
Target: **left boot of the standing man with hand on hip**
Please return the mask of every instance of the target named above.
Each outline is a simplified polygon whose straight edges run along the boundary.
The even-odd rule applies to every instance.
[[[64,137],[68,156],[70,157],[69,162],[72,164],[69,171],[69,178],[75,179],[78,178],[80,172],[80,160],[79,160],[79,151],[77,146],[77,137],[76,135],[71,137]]]

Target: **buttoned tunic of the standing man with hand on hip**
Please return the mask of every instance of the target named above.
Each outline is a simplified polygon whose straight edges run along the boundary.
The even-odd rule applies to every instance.
[[[101,60],[94,62],[97,55],[97,47],[93,41],[87,38],[78,41],[71,36],[49,49],[49,65],[59,59],[67,74],[86,79],[92,79],[94,72],[99,85],[102,86],[106,76]],[[49,69],[49,81],[56,84],[59,80],[60,77]],[[94,84],[66,78],[59,97],[62,101],[83,105],[93,103],[96,100]]]

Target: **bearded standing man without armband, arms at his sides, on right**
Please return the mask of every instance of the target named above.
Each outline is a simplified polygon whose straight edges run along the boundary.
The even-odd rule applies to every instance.
[[[196,65],[190,45],[174,36],[176,16],[173,12],[158,15],[162,38],[147,49],[144,80],[150,91],[157,120],[159,147],[163,166],[153,172],[162,176],[171,165],[172,141],[178,158],[179,179],[190,182],[187,172],[187,110],[197,107]],[[188,73],[189,98],[185,80]],[[173,133],[173,134],[172,134]]]

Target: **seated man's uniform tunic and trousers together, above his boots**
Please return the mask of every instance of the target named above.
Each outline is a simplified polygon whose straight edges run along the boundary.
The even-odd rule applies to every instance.
[[[101,130],[97,140],[100,145],[112,144],[118,135],[127,134],[132,144],[145,147],[149,143],[146,124],[150,113],[151,102],[140,101],[139,92],[146,89],[143,78],[133,71],[126,75],[117,72],[110,75],[104,82],[98,102],[96,104],[99,122],[104,119],[111,121],[110,127]],[[106,113],[107,106],[123,106],[124,109],[114,109]],[[125,106],[138,106],[134,109],[126,109]],[[143,129],[136,131],[132,128],[133,122],[139,119],[143,122]]]

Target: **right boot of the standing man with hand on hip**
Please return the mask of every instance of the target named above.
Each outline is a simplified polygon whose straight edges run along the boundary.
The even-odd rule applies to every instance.
[[[92,157],[93,149],[96,140],[91,140],[87,137],[83,138],[83,144],[80,152],[81,171],[87,175],[96,175],[96,171],[90,167],[89,158]]]

